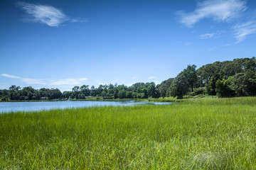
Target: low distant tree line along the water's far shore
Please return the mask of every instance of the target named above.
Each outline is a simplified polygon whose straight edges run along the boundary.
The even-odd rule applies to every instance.
[[[88,85],[74,86],[72,91],[63,91],[59,89],[39,90],[33,89],[31,86],[23,87],[12,85],[9,89],[0,90],[1,101],[19,101],[19,100],[41,100],[48,99],[85,99],[88,96],[99,96],[104,99],[114,98],[159,98],[159,91],[156,89],[154,82],[136,83],[132,86],[109,84],[89,87]]]

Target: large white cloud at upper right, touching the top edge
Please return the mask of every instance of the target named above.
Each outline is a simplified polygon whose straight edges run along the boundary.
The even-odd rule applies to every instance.
[[[192,13],[178,11],[177,14],[181,16],[181,23],[192,27],[203,18],[211,18],[214,21],[230,21],[240,16],[240,13],[246,9],[246,1],[242,0],[206,0],[198,3]]]

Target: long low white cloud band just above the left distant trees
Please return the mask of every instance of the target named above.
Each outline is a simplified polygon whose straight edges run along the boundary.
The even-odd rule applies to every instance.
[[[10,74],[1,74],[3,77],[8,77],[11,79],[20,79],[24,83],[31,85],[31,84],[41,84],[46,86],[63,86],[63,85],[76,85],[80,86],[87,82],[87,78],[80,78],[80,79],[30,79],[30,78],[22,78],[17,77]]]

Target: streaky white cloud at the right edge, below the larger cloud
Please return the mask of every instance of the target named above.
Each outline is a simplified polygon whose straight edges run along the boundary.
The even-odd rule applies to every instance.
[[[247,23],[241,23],[233,27],[235,30],[234,38],[237,40],[236,43],[245,40],[248,35],[256,33],[256,21],[248,21]]]

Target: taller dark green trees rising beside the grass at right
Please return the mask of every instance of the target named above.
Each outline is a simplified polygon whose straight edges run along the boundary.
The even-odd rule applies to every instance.
[[[164,82],[161,83],[162,86]],[[196,70],[188,65],[171,83],[165,96],[208,94],[219,97],[256,95],[256,60],[252,58],[214,62]]]

